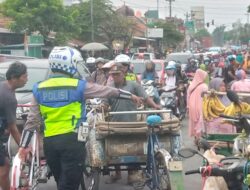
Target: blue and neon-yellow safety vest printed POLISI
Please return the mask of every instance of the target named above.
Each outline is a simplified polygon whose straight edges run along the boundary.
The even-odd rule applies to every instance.
[[[73,132],[85,120],[85,86],[86,81],[73,78],[50,78],[34,85],[45,137]]]

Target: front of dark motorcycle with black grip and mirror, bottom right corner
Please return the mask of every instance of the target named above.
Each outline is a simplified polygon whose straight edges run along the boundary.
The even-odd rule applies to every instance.
[[[191,148],[183,148],[178,152],[182,158],[191,158],[194,155],[199,155],[205,160],[205,165],[195,170],[189,170],[185,172],[185,175],[201,174],[203,178],[217,176],[223,177],[220,180],[214,180],[214,183],[210,183],[210,187],[207,188],[206,184],[203,184],[203,189],[213,190],[248,190],[250,185],[250,164],[248,159],[243,157],[225,157],[220,159],[217,164],[212,164],[206,157],[200,154],[198,151]],[[224,179],[224,180],[223,180]],[[217,183],[216,183],[217,181]],[[223,183],[226,184],[223,184]]]

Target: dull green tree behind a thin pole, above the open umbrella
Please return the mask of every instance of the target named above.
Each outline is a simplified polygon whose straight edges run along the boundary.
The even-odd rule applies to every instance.
[[[80,27],[78,36],[81,40],[91,41],[91,12],[90,1],[81,3],[72,8],[78,9],[80,13],[76,24]],[[129,17],[119,15],[113,10],[112,5],[107,0],[93,1],[93,32],[95,41],[105,40],[109,47],[112,47],[114,40],[123,40],[127,47],[132,39],[134,22]]]

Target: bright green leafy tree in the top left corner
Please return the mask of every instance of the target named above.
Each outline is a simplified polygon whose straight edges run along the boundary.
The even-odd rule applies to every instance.
[[[71,22],[75,12],[66,11],[61,0],[8,0],[1,4],[1,11],[13,19],[12,31],[39,32],[45,42],[51,41],[49,35],[55,32],[55,43],[57,39],[63,43],[75,28]]]

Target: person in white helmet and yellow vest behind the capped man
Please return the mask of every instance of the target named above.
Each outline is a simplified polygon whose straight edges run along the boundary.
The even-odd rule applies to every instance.
[[[125,78],[127,81],[139,81],[136,74],[130,68],[131,60],[129,56],[125,54],[117,55],[115,58],[115,63],[121,63],[124,66],[124,72],[126,74]]]

